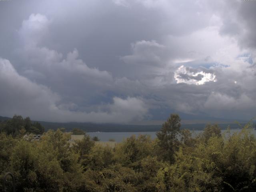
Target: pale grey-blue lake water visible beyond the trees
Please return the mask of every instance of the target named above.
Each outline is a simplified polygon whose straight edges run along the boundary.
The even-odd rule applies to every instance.
[[[222,133],[226,130],[221,130]],[[230,133],[240,132],[240,129],[231,129]],[[197,135],[201,130],[191,130],[192,135]],[[256,136],[256,130],[252,130],[252,133]],[[129,138],[132,135],[138,137],[138,135],[150,135],[151,139],[156,138],[156,132],[87,132],[91,137],[97,136],[100,141],[108,141],[109,139],[114,139],[116,142],[122,142],[126,138]]]

